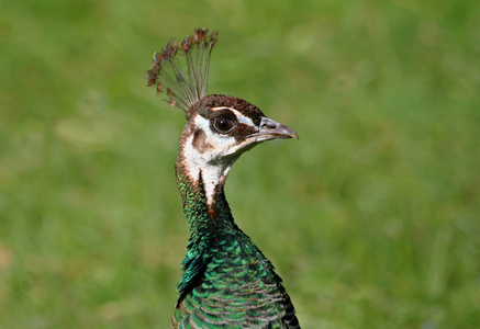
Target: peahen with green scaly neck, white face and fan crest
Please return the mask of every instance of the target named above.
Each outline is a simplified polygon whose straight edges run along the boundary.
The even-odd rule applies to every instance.
[[[148,86],[185,111],[176,161],[178,189],[190,224],[172,328],[300,328],[274,265],[235,224],[224,184],[238,157],[295,132],[255,105],[228,95],[206,95],[210,56],[217,32],[196,29],[156,53]]]

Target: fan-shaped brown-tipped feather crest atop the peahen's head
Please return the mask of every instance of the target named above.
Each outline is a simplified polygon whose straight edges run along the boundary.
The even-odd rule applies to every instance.
[[[196,29],[180,44],[172,38],[155,53],[147,70],[147,86],[157,86],[157,93],[166,93],[168,104],[183,110],[187,120],[192,105],[206,95],[210,56],[217,36],[217,31],[209,35],[209,30]]]

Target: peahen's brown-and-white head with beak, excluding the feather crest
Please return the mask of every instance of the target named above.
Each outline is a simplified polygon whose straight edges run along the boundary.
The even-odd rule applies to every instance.
[[[276,138],[299,137],[244,100],[209,95],[189,111],[180,138],[179,164],[194,181],[201,173],[209,196],[209,185],[223,184],[230,168],[243,152]]]

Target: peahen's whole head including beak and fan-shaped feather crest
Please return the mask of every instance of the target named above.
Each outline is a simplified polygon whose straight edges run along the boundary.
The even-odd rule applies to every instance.
[[[254,146],[276,138],[298,138],[293,129],[268,118],[257,106],[238,98],[206,95],[211,52],[217,32],[196,29],[183,42],[171,39],[154,55],[148,86],[182,109],[187,124],[180,137],[177,171],[192,181],[223,185],[233,162]],[[178,60],[183,57],[185,60]],[[213,188],[212,188],[213,189]],[[213,191],[213,190],[212,190]]]

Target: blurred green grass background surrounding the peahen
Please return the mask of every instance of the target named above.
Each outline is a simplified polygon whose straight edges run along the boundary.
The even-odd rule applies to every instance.
[[[155,50],[300,140],[234,167],[303,328],[480,328],[479,1],[1,1],[0,328],[168,328],[183,115]]]

